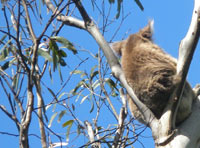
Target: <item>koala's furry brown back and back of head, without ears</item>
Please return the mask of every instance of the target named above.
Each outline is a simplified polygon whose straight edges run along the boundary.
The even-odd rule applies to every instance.
[[[175,87],[176,61],[151,41],[131,35],[122,68],[138,98],[160,118]]]

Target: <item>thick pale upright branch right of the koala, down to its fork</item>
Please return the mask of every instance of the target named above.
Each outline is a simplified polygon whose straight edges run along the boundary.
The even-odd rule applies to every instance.
[[[186,36],[180,43],[179,46],[179,58],[177,63],[177,77],[180,78],[180,82],[176,86],[166,108],[164,114],[160,118],[159,128],[162,130],[152,129],[152,132],[155,134],[156,143],[158,145],[165,144],[168,142],[175,133],[176,128],[176,115],[178,107],[182,99],[182,93],[185,87],[185,81],[187,73],[192,61],[192,57],[198,43],[200,36],[200,1],[194,0],[194,9],[191,19],[191,24],[188,29]],[[175,101],[174,101],[175,100]],[[159,131],[159,133],[157,132]]]

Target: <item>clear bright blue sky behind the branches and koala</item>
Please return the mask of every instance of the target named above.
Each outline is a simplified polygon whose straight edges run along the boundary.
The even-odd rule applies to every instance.
[[[93,18],[93,20],[98,24],[98,26],[101,28],[102,19],[100,16],[96,13],[97,11],[93,11],[92,5],[89,1],[84,0],[83,1],[84,6],[86,10],[88,11],[89,16]],[[130,15],[126,18],[124,23],[119,29],[119,32],[117,33],[116,37],[113,39],[113,41],[121,40],[124,37],[128,37],[129,34],[137,32],[139,29],[143,28],[149,19],[154,19],[154,41],[156,44],[158,44],[161,48],[163,48],[167,53],[172,55],[173,57],[178,56],[178,47],[181,39],[185,36],[187,29],[190,24],[190,19],[192,15],[193,10],[193,1],[185,0],[185,1],[160,1],[160,0],[146,0],[141,1],[144,6],[144,11],[141,11],[138,6],[134,3],[133,0],[124,0],[123,7],[124,7],[124,14],[130,13]],[[1,5],[0,5],[1,6]],[[113,18],[116,15],[116,4],[113,5],[112,12],[111,12],[111,18]],[[46,13],[46,9],[42,9],[44,13]],[[78,13],[76,13],[78,15]],[[3,18],[2,13],[0,13],[0,18]],[[108,27],[107,32],[104,34],[105,39],[107,41],[110,41],[111,36],[113,35],[114,30],[116,30],[118,26],[119,20],[116,21],[113,25]],[[42,29],[42,27],[37,27],[35,25],[38,22],[33,21],[34,29],[37,33],[39,33]],[[60,36],[66,37],[70,41],[74,43],[74,45],[79,49],[87,49],[91,53],[96,54],[98,51],[98,46],[94,39],[85,31],[79,30],[72,27],[65,27],[64,31],[59,34]],[[2,35],[0,34],[0,37]],[[69,64],[69,68],[62,69],[63,76],[69,75],[69,72],[73,70],[73,67],[77,65],[76,61],[77,58],[74,58],[73,56],[69,58],[71,55],[68,53],[68,58],[66,58],[66,62]],[[80,58],[85,59],[86,57],[89,57],[88,53],[82,52],[80,55]],[[200,51],[199,51],[199,45],[197,46],[197,50],[195,52],[195,56],[192,61],[192,65],[189,71],[188,75],[188,81],[192,86],[195,86],[197,83],[199,83],[199,59],[200,59]],[[80,67],[81,70],[88,70],[89,66],[92,66],[97,61],[92,61],[94,63],[91,63],[91,61],[86,62],[83,66]],[[54,80],[52,82],[49,81],[48,75],[43,79],[44,82],[50,85],[52,89],[59,89],[61,81],[59,79],[59,76],[57,73],[53,75]],[[69,85],[65,88],[65,91],[69,91],[69,86],[73,87],[75,86],[76,79],[79,76],[74,76],[72,80],[70,81]],[[64,77],[64,81],[67,79],[67,77]],[[0,92],[2,91],[2,88],[0,88]],[[44,92],[44,95],[46,93]],[[0,104],[4,104],[6,106],[6,102],[3,100],[4,96],[0,97]],[[51,96],[45,96],[45,103],[50,102],[49,100],[52,99]],[[79,99],[76,103],[76,107],[79,108],[78,111],[76,111],[76,115],[82,120],[89,120],[92,121],[92,118],[94,118],[93,114],[90,114],[90,103],[84,102],[83,104],[80,104]],[[114,101],[114,100],[112,100]],[[115,104],[116,108],[120,109],[119,104]],[[62,108],[58,108],[57,110],[61,110]],[[48,112],[48,115],[52,115],[52,110]],[[116,122],[113,122],[113,117],[110,113],[103,112],[104,116],[101,117],[102,124],[114,124]],[[6,118],[6,116],[0,111],[0,116],[2,118],[2,122],[0,123],[0,131],[8,131],[11,133],[16,133],[14,124]],[[35,118],[35,117],[34,117]],[[66,128],[62,128],[62,123],[64,123],[66,120],[71,119],[68,115],[64,117],[64,119],[61,120],[61,123],[58,124],[56,121],[52,124],[52,129],[54,129],[55,132],[58,133],[65,133]],[[108,123],[104,123],[104,121],[107,121]],[[31,130],[30,133],[34,133],[35,130],[38,128],[38,125],[36,123],[37,119],[33,120],[31,123]],[[150,137],[151,133],[147,129],[142,136],[144,137]],[[140,137],[139,141],[134,144],[136,148],[142,148],[148,147],[153,148],[153,140],[151,138],[144,138]],[[1,145],[2,147],[18,147],[18,137],[12,137],[7,135],[0,135],[1,139]],[[53,139],[54,142],[58,142],[58,139]],[[10,142],[12,141],[12,143]],[[83,142],[87,142],[87,139],[82,139]],[[80,142],[81,143],[81,142]],[[31,138],[30,141],[31,147],[39,147],[39,140],[35,137]]]

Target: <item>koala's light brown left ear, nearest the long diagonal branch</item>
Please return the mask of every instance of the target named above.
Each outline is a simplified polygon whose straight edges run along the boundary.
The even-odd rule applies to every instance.
[[[115,52],[115,54],[117,54],[118,56],[121,56],[122,50],[125,47],[125,44],[126,44],[126,40],[122,40],[122,41],[111,43],[110,47]]]

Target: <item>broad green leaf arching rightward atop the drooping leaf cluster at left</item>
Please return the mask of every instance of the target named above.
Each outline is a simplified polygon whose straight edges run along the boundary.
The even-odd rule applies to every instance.
[[[76,48],[69,40],[60,36],[54,36],[54,37],[51,37],[51,39],[55,40],[56,42],[61,43],[65,48],[71,50],[73,54],[77,54]]]

